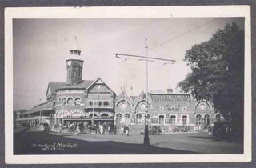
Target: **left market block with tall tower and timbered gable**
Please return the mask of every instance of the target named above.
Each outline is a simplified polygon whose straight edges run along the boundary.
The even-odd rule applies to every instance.
[[[18,122],[69,125],[71,122],[113,122],[114,91],[103,82],[82,80],[81,50],[74,45],[66,59],[66,82],[49,82],[46,102],[22,113]]]

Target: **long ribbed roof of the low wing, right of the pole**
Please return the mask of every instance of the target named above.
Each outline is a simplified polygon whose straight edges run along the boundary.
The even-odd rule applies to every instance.
[[[150,94],[153,102],[191,102],[190,94]]]

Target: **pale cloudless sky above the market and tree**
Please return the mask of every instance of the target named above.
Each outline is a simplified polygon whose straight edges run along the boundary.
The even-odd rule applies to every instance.
[[[48,82],[66,82],[66,58],[77,37],[83,80],[100,77],[118,95],[145,88],[145,61],[115,53],[175,60],[149,62],[149,91],[175,90],[190,71],[186,50],[209,40],[226,23],[242,18],[14,19],[14,110],[46,102]]]

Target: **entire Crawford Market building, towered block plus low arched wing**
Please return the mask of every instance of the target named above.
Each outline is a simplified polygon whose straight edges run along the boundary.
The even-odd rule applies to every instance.
[[[82,80],[83,62],[81,50],[74,45],[66,58],[66,82],[49,82],[46,102],[34,106],[19,115],[18,123],[38,125],[70,125],[72,122],[113,122],[118,128],[130,126],[139,131],[145,125],[145,93],[130,96],[126,91],[116,97],[114,90],[102,80]],[[210,102],[196,101],[191,94],[151,91],[148,95],[150,126],[162,126],[166,132],[178,126],[190,130],[206,129],[222,117],[216,114]]]

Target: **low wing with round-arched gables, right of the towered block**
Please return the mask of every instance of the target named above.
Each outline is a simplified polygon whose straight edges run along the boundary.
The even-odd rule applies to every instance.
[[[115,122],[117,126],[130,126],[135,132],[145,125],[145,93],[137,97],[129,96],[125,91],[116,98]],[[196,101],[191,94],[173,93],[172,90],[151,91],[148,94],[148,112],[150,126],[161,126],[165,132],[177,127],[190,130],[204,130],[221,120],[210,102]]]

